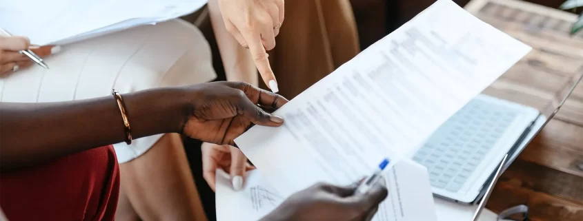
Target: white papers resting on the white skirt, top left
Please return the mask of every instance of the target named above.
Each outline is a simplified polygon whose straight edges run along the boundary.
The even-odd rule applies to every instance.
[[[206,0],[18,0],[0,4],[0,28],[37,45],[67,44],[190,14]]]

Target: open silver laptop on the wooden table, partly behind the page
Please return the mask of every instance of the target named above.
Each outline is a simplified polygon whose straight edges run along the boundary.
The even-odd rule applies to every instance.
[[[504,156],[502,171],[555,116],[582,77],[574,78],[548,113],[486,94],[473,98],[413,155],[428,169],[434,196],[479,203]]]

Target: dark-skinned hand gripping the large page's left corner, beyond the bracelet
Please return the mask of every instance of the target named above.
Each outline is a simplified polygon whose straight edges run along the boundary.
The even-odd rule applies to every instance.
[[[241,82],[213,82],[186,87],[194,90],[188,100],[188,118],[182,132],[217,145],[235,145],[233,140],[253,124],[277,127],[284,118],[272,115],[286,98]],[[266,112],[268,111],[268,112]]]

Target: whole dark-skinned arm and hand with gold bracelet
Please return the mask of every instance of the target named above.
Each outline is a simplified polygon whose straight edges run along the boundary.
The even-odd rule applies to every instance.
[[[251,123],[281,125],[286,99],[246,83],[205,83],[123,94],[132,137],[183,133],[233,144]],[[228,123],[223,125],[222,123]],[[0,103],[0,169],[23,167],[125,140],[113,96],[61,103]]]

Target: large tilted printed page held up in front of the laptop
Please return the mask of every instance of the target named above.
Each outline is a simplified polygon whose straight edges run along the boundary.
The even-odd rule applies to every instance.
[[[235,143],[283,196],[345,185],[382,158],[392,167],[410,157],[530,50],[439,0],[277,110],[283,126],[255,126]]]

